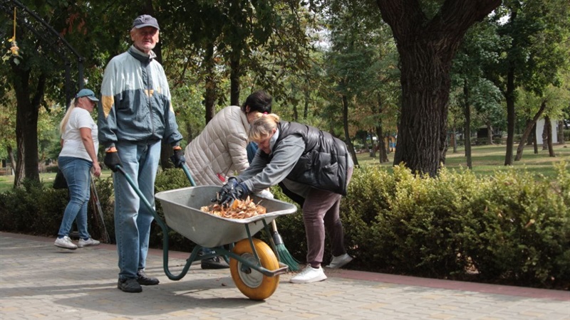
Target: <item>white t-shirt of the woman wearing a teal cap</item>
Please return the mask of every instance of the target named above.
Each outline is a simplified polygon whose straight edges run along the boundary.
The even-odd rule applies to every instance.
[[[63,139],[63,148],[61,149],[59,156],[73,156],[92,161],[85,149],[83,141],[81,140],[81,132],[79,131],[81,128],[91,129],[91,138],[93,139],[93,145],[95,146],[95,154],[97,154],[99,149],[97,124],[95,124],[91,114],[87,110],[80,107],[74,107],[69,115],[66,130],[61,135],[61,139]]]

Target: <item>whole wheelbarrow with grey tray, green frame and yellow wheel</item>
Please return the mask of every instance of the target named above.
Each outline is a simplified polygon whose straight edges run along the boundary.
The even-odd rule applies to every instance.
[[[194,185],[190,171],[185,165],[182,169]],[[289,266],[279,261],[273,242],[269,246],[253,236],[262,229],[266,230],[267,235],[271,235],[269,224],[279,215],[295,213],[296,206],[284,201],[252,196],[253,201],[266,208],[265,214],[246,219],[222,218],[199,210],[202,206],[212,203],[211,199],[219,191],[219,186],[191,186],[155,194],[164,211],[165,223],[124,169],[118,166],[118,171],[125,176],[162,228],[162,260],[168,279],[180,280],[187,274],[192,262],[222,255],[229,257],[232,279],[237,289],[246,297],[264,300],[275,292],[279,275],[285,274]],[[196,244],[182,272],[176,275],[172,274],[168,267],[169,230],[175,230]],[[203,247],[212,248],[215,253],[199,255]]]

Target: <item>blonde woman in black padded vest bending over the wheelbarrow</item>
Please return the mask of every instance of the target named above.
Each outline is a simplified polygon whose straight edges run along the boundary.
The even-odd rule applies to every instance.
[[[305,199],[303,218],[307,239],[306,266],[293,283],[326,279],[323,262],[325,231],[331,238],[333,260],[328,267],[340,268],[351,262],[344,247],[339,215],[341,196],[346,195],[353,161],[346,144],[315,127],[280,121],[276,114],[264,114],[252,123],[249,139],[259,145],[252,164],[219,191],[219,202],[244,199],[283,181]]]

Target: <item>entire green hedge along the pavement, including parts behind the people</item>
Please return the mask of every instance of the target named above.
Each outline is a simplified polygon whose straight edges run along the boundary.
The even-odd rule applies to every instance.
[[[563,161],[556,181],[524,170],[504,169],[477,177],[464,169],[442,169],[435,178],[417,176],[402,166],[393,173],[379,166],[356,169],[341,202],[348,253],[347,267],[440,279],[570,287],[570,173]],[[105,225],[114,238],[113,183],[97,181]],[[157,176],[156,191],[189,186],[181,170]],[[276,198],[289,201],[279,187]],[[23,188],[0,193],[1,230],[55,236],[67,191],[26,181]],[[157,213],[163,217],[160,203]],[[102,226],[89,208],[90,233]],[[279,234],[294,257],[304,261],[306,238],[301,210],[276,220]],[[269,235],[258,234],[269,241]],[[150,243],[162,247],[155,223]],[[190,251],[194,244],[170,230],[170,250]],[[330,259],[326,242],[325,263]]]

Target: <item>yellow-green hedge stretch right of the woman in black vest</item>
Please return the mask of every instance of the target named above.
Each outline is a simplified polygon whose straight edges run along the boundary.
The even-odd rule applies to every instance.
[[[442,169],[420,177],[367,166],[341,204],[346,245],[363,270],[537,287],[570,284],[570,174],[555,186],[526,171]],[[371,217],[375,218],[371,220]]]

